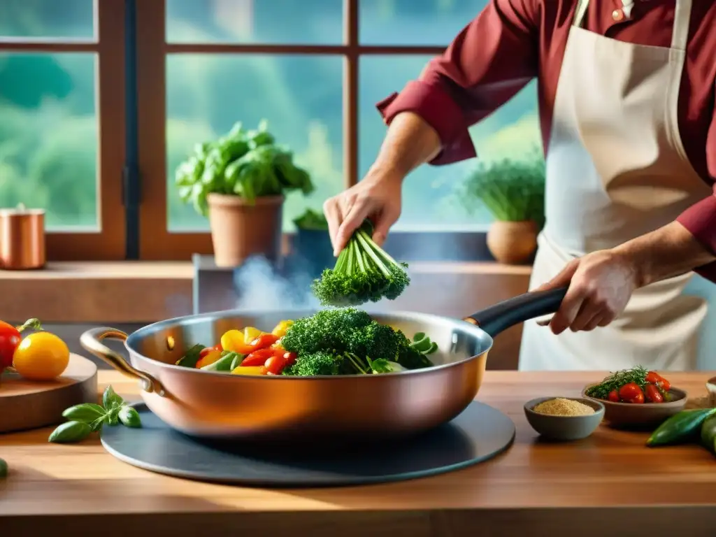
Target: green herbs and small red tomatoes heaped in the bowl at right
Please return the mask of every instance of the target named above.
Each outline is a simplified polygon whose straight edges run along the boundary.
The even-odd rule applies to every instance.
[[[654,371],[637,366],[612,373],[602,382],[589,387],[585,395],[611,402],[661,403],[669,401],[671,383]]]

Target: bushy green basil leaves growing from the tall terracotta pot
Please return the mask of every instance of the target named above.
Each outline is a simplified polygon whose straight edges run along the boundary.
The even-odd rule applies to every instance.
[[[266,121],[256,130],[236,123],[226,136],[196,145],[177,168],[175,184],[181,200],[203,216],[208,214],[210,193],[238,195],[253,204],[263,196],[314,190],[306,170],[294,164],[293,153],[276,145]]]

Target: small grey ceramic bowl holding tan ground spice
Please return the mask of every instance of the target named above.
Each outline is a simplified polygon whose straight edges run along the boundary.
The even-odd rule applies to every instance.
[[[591,435],[596,427],[599,427],[601,418],[604,417],[604,405],[593,399],[563,397],[563,399],[578,401],[594,408],[594,414],[586,416],[551,416],[532,410],[541,402],[556,398],[539,397],[525,403],[527,421],[540,435],[548,440],[581,440]]]

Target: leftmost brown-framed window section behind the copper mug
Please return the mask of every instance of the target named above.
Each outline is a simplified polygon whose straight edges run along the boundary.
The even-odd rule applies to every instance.
[[[47,211],[49,259],[125,256],[124,4],[0,3],[0,206]]]

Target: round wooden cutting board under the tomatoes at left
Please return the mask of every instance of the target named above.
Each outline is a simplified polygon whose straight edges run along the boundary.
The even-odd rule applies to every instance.
[[[57,379],[26,380],[16,373],[0,377],[0,434],[37,429],[64,421],[72,405],[97,402],[97,365],[77,354]]]

